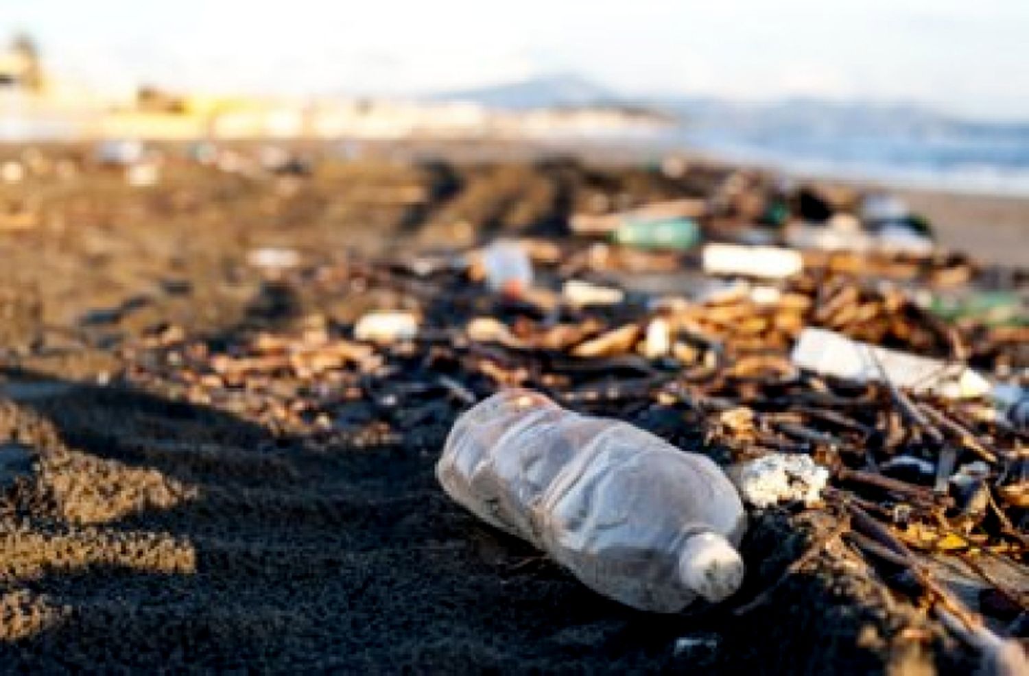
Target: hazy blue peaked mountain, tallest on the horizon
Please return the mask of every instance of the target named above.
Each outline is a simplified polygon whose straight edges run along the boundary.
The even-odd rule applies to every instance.
[[[620,97],[607,87],[575,73],[557,73],[518,82],[448,92],[432,97],[440,101],[470,101],[489,108],[579,108],[618,105]]]

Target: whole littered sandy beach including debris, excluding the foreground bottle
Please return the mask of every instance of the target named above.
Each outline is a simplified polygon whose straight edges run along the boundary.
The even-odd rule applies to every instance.
[[[887,194],[702,163],[182,150],[0,165],[12,669],[1014,659],[1027,271]],[[507,388],[724,469],[740,589],[639,612],[454,504],[448,433]]]

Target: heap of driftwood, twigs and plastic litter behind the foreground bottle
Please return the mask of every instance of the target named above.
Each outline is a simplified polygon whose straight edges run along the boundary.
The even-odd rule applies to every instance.
[[[836,558],[970,644],[1025,636],[1025,274],[922,246],[919,221],[881,201],[872,229],[843,213],[791,229],[773,206],[776,222],[745,229],[665,205],[573,219],[564,240],[277,269],[270,293],[386,300],[356,322],[314,315],[228,342],[164,326],[129,350],[125,377],[313,449],[429,453],[460,412],[531,388],[703,446],[740,468],[755,508],[823,512],[787,576]],[[862,243],[786,246],[833,228]],[[1003,312],[978,310],[1001,286]]]

